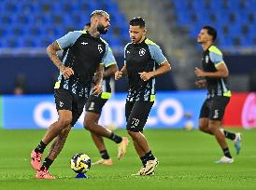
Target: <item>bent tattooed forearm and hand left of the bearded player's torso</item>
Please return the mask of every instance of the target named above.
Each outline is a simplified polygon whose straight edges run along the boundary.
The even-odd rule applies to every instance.
[[[50,60],[56,67],[60,70],[60,72],[64,75],[64,79],[68,78],[70,75],[74,75],[74,71],[70,67],[65,67],[63,62],[58,58],[57,51],[61,50],[58,43],[55,41],[49,47],[47,47],[47,54],[50,57]]]

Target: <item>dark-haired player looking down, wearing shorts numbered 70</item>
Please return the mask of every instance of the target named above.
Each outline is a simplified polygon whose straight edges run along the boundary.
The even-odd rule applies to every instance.
[[[126,129],[143,165],[135,175],[150,175],[154,174],[158,160],[142,132],[155,101],[155,77],[169,72],[171,66],[161,48],[146,37],[145,20],[137,17],[130,20],[129,24],[132,42],[124,47],[124,65],[121,71],[116,72],[115,79],[128,75]]]

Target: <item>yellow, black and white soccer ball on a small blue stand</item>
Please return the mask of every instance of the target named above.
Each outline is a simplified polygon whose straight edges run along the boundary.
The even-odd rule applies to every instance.
[[[77,154],[71,158],[70,167],[76,173],[86,173],[91,168],[91,158],[85,154]]]

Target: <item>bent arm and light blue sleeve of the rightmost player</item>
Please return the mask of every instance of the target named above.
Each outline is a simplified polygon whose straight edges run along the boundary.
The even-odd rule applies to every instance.
[[[229,75],[228,68],[225,62],[222,59],[221,54],[217,54],[214,52],[210,52],[209,57],[211,61],[214,63],[216,68],[215,72],[205,72],[202,69],[195,67],[194,74],[199,77],[210,77],[210,78],[222,78],[227,77]]]

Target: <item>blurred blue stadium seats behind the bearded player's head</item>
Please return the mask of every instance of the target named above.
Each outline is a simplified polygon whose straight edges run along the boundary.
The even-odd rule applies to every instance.
[[[47,47],[70,31],[82,30],[95,9],[110,14],[111,26],[106,35],[109,45],[123,47],[129,41],[128,27],[123,24],[127,20],[114,0],[2,0],[0,48]]]

